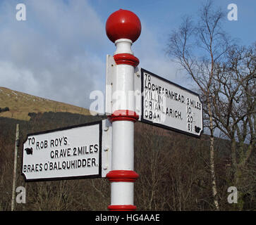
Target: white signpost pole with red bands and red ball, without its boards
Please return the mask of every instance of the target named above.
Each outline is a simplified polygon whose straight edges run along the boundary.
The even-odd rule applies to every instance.
[[[118,10],[106,21],[106,35],[116,45],[114,60],[116,73],[112,84],[113,149],[111,171],[106,177],[111,182],[111,205],[113,211],[136,210],[133,205],[133,188],[138,174],[134,167],[134,122],[139,116],[134,105],[134,69],[139,64],[131,46],[141,32],[140,19],[135,13]],[[132,95],[130,95],[132,93]],[[118,101],[113,98],[118,96]]]

